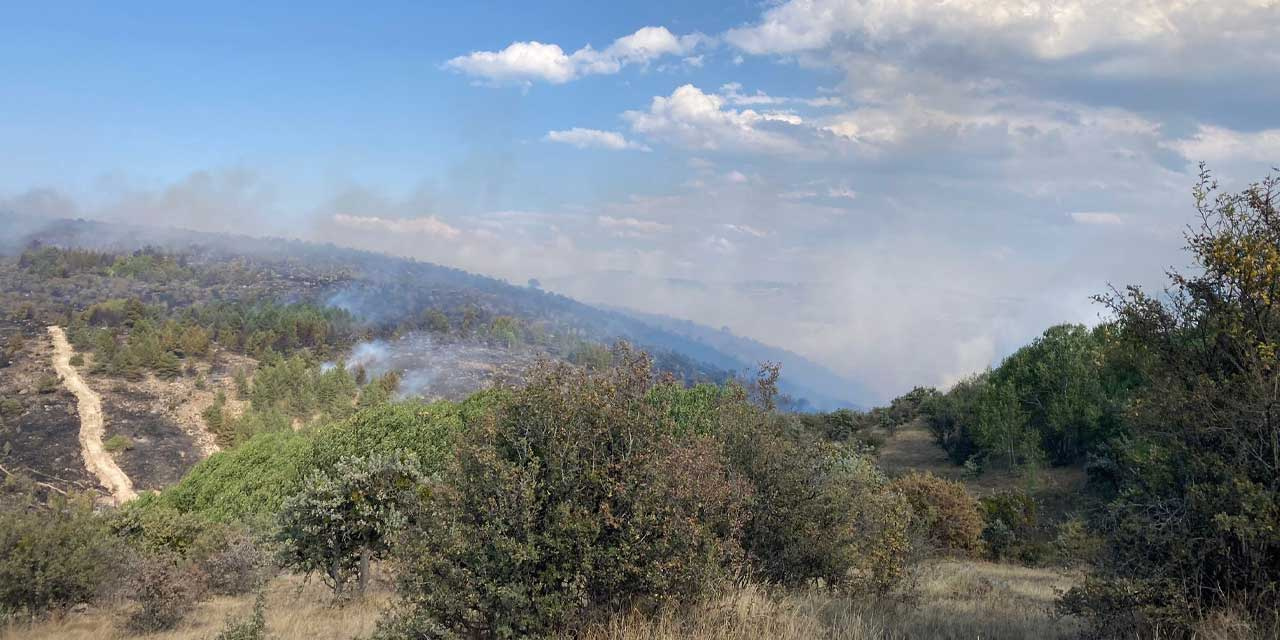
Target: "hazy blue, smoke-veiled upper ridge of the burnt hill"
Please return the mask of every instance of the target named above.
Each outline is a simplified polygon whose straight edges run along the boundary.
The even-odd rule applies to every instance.
[[[852,383],[785,349],[749,338],[632,310],[600,308],[532,287],[515,285],[431,262],[285,238],[259,238],[91,220],[41,220],[0,212],[0,253],[32,241],[96,250],[164,247],[193,256],[243,256],[268,265],[282,297],[340,306],[367,323],[394,328],[426,310],[468,307],[511,315],[602,343],[625,339],[654,353],[658,365],[686,379],[723,380],[760,361],[782,364],[782,390],[813,408],[856,406],[867,397]],[[687,282],[689,287],[700,285]]]

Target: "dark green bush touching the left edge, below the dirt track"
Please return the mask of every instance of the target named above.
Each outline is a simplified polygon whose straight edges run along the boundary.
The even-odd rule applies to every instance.
[[[0,512],[0,614],[36,616],[102,595],[120,548],[88,500]]]

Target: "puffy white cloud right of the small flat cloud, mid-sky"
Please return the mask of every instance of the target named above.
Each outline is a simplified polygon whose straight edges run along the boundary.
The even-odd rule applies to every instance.
[[[677,87],[671,96],[655,96],[646,111],[626,111],[631,131],[689,148],[745,150],[794,154],[803,146],[785,129],[803,123],[795,114],[736,110],[724,99],[692,84]]]

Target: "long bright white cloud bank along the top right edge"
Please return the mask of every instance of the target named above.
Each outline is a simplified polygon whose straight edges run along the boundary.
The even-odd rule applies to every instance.
[[[790,0],[724,40],[749,54],[801,54],[844,41],[964,45],[1041,60],[1096,54],[1112,64],[1162,65],[1162,52],[1206,42],[1266,44],[1280,28],[1274,0]]]

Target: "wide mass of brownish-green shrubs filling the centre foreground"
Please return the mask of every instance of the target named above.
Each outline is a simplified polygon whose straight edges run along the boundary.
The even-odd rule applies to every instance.
[[[859,591],[900,580],[911,509],[856,448],[809,436],[742,388],[655,383],[625,348],[612,362],[547,365],[467,417],[401,536],[384,637],[548,636],[735,577]]]

